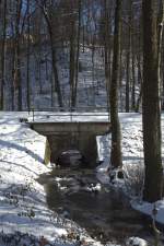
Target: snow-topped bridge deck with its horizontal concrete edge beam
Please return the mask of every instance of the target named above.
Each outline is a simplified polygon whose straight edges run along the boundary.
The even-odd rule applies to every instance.
[[[28,117],[32,128],[43,134],[65,132],[107,133],[110,129],[107,113],[35,113]]]

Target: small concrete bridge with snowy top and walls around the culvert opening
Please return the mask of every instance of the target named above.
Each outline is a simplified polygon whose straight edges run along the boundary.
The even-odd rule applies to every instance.
[[[106,134],[110,130],[107,115],[65,113],[46,118],[35,118],[31,127],[47,137],[51,149],[51,161],[57,162],[58,156],[67,150],[79,150],[91,165],[97,159],[96,136]]]

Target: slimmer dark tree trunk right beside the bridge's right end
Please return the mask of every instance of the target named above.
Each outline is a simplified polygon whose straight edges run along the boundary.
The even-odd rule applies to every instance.
[[[114,56],[110,83],[110,122],[112,122],[112,166],[122,165],[121,159],[121,136],[118,117],[118,79],[119,79],[119,57],[120,57],[120,30],[121,30],[121,0],[116,1],[115,9],[115,31],[114,31]]]

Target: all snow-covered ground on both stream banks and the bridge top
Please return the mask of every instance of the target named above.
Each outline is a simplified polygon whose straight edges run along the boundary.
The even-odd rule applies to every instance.
[[[35,120],[45,120],[46,114],[37,114]],[[55,120],[54,117],[51,120]],[[66,117],[56,118],[66,120]],[[95,114],[94,120],[99,120],[98,117],[101,120],[107,120],[108,116],[102,118]],[[37,183],[40,174],[50,171],[50,165],[43,164],[46,138],[31,130],[24,122],[20,122],[20,118],[32,120],[32,115],[0,113],[0,246],[30,246],[33,245],[32,241],[35,242],[34,245],[46,245],[47,241],[56,246],[101,245],[74,222],[59,216],[47,208],[44,187]],[[162,119],[164,120],[164,116]],[[81,120],[80,116],[77,120]],[[131,197],[136,197],[141,195],[143,180],[141,115],[120,114],[120,121],[126,181],[122,183],[121,179],[119,181],[125,189],[131,186],[127,190],[131,192]],[[106,181],[109,181],[108,175],[105,174],[109,167],[110,136],[97,137],[97,142],[99,160],[104,161],[97,172],[101,173],[99,178],[104,175]],[[162,145],[164,153],[164,143]],[[117,178],[114,179],[114,185],[117,186]],[[137,200],[132,204],[148,214],[152,213],[154,206]],[[164,223],[164,201],[156,202],[156,220]],[[13,234],[16,238],[12,236]],[[129,242],[127,245],[131,245]]]

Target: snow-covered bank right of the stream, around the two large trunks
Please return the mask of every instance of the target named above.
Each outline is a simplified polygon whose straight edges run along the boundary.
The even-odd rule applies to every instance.
[[[121,187],[130,196],[131,204],[136,210],[152,216],[154,203],[143,202],[141,200],[144,179],[142,116],[136,113],[120,113],[119,118],[122,132],[122,169],[125,178],[122,180],[115,175],[113,185],[116,188]],[[164,136],[163,121],[164,114],[162,114],[162,136]],[[162,140],[162,155],[164,156],[164,138]],[[110,149],[110,134],[97,137],[99,161],[104,162],[96,171],[98,173],[98,179],[104,184],[110,183],[107,172],[110,167],[108,149]],[[155,220],[164,224],[164,200],[155,202],[155,206],[157,210]]]

